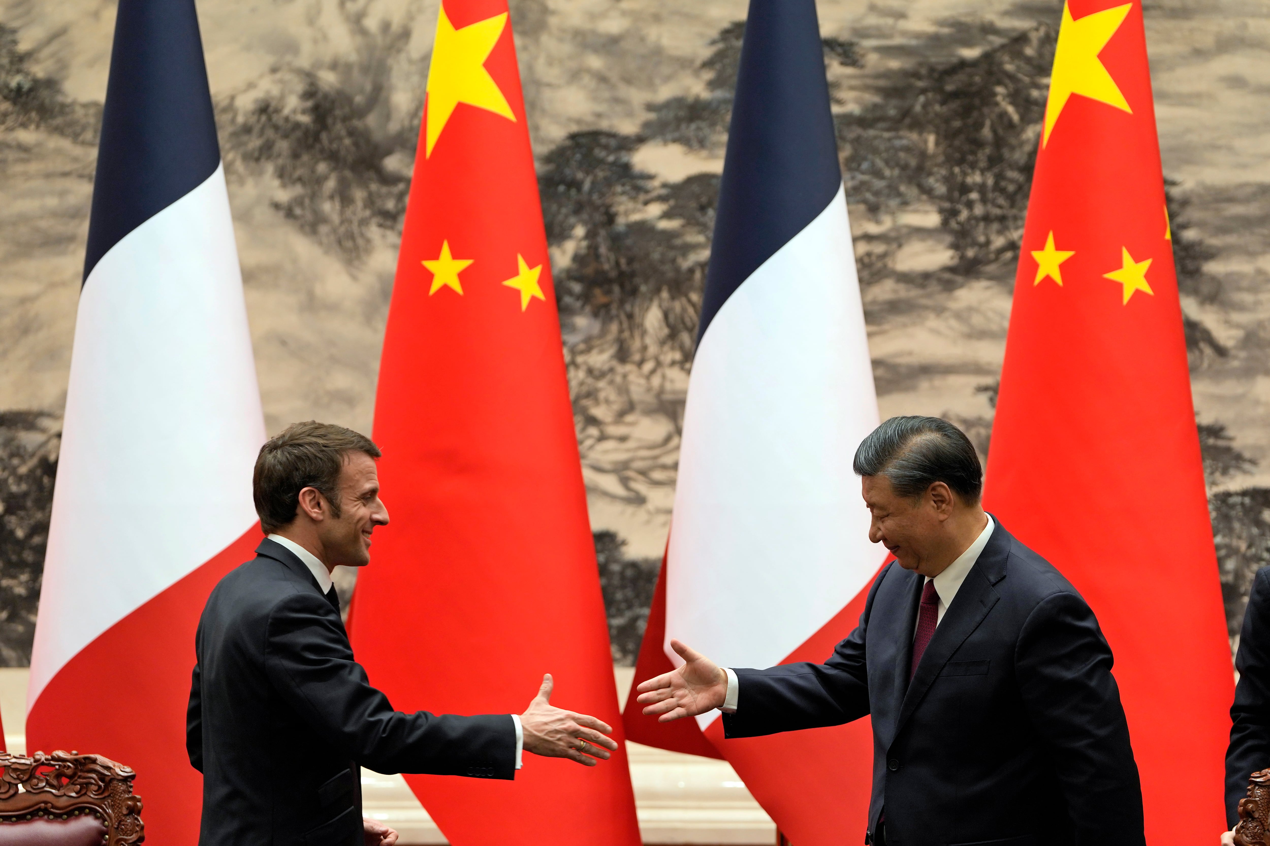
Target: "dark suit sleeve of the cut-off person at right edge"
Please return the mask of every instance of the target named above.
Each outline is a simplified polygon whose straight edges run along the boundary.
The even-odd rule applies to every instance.
[[[1248,793],[1248,776],[1270,767],[1270,567],[1259,569],[1252,580],[1234,667],[1240,684],[1226,750],[1226,822],[1232,828],[1240,821],[1240,799]]]

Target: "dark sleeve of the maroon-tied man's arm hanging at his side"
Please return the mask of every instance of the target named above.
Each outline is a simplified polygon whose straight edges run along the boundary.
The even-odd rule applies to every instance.
[[[1080,843],[1142,846],[1142,785],[1111,647],[1076,594],[1033,609],[1015,648],[1024,708],[1050,748]]]

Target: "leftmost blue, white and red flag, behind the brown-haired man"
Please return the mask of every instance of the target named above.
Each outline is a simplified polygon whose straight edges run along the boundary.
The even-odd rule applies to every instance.
[[[36,625],[27,748],[137,771],[146,835],[198,841],[194,628],[259,540],[264,441],[193,0],[121,0]]]

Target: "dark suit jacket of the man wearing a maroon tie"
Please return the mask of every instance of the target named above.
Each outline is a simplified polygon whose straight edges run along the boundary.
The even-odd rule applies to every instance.
[[[870,714],[888,846],[1146,842],[1111,649],[1076,589],[1001,524],[909,684],[925,578],[888,566],[823,665],[737,670],[726,737]]]

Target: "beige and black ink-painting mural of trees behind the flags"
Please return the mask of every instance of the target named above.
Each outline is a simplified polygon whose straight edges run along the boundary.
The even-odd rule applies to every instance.
[[[199,3],[271,433],[371,429],[436,6]],[[618,663],[665,542],[745,6],[511,3]],[[819,10],[881,413],[986,453],[1062,1]],[[0,0],[4,666],[30,656],[113,23]],[[1233,643],[1270,563],[1270,0],[1146,23]]]

